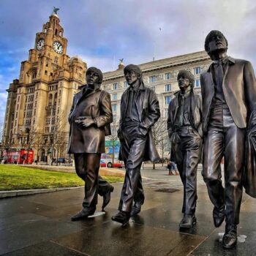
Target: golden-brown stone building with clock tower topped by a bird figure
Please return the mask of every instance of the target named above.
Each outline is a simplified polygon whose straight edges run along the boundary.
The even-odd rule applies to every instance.
[[[67,117],[74,94],[86,80],[86,63],[67,55],[68,41],[57,10],[36,34],[29,59],[21,62],[19,79],[7,89],[3,144],[33,148],[34,159],[42,161],[66,157]]]

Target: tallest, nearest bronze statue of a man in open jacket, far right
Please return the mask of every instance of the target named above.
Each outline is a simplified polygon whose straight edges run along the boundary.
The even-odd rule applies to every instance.
[[[211,31],[205,49],[213,60],[201,75],[203,98],[203,178],[214,204],[214,225],[226,221],[222,246],[237,242],[242,198],[245,135],[250,114],[256,110],[256,84],[252,64],[227,56],[227,39]],[[220,162],[225,157],[225,189]]]

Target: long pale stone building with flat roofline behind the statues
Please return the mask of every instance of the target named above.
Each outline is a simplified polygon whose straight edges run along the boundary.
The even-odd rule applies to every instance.
[[[173,98],[173,94],[178,91],[177,75],[181,69],[187,69],[195,75],[195,90],[200,91],[200,73],[208,69],[211,59],[205,51],[197,53],[189,53],[181,56],[175,56],[167,59],[159,59],[147,63],[140,64],[143,71],[143,80],[146,86],[151,87],[157,94],[161,110],[161,118],[155,134],[157,148],[162,157],[167,157],[170,151],[170,145],[167,138],[167,110],[168,105]],[[127,88],[127,82],[124,78],[124,63],[118,65],[118,69],[113,72],[105,72],[102,83],[103,89],[110,92],[112,99],[113,124],[112,133],[118,128],[118,120],[120,118],[120,102],[121,94]],[[157,142],[158,140],[158,142]]]

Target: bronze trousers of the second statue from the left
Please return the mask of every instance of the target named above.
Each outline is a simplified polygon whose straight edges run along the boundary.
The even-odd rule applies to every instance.
[[[121,154],[124,157],[126,174],[121,190],[119,211],[131,211],[132,202],[144,202],[144,192],[141,181],[140,167],[143,162],[146,138],[137,137],[135,128],[124,132],[124,140],[121,140]]]

